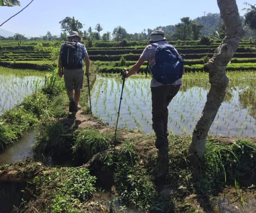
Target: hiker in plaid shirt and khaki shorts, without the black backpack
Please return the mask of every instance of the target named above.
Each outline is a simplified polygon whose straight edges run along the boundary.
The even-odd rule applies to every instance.
[[[58,75],[62,77],[64,75],[65,87],[67,89],[67,96],[70,100],[69,111],[77,112],[80,108],[78,107],[78,102],[80,98],[80,89],[83,87],[84,73],[83,73],[83,58],[85,60],[85,72],[86,75],[90,75],[90,59],[87,54],[84,44],[80,43],[80,36],[78,32],[71,31],[70,35],[67,36],[69,41],[77,42],[77,57],[79,59],[79,66],[76,69],[67,69],[64,68],[62,73],[62,64],[61,64],[61,54],[63,52],[64,43],[61,45],[60,57],[58,60]],[[75,94],[73,96],[73,90]]]

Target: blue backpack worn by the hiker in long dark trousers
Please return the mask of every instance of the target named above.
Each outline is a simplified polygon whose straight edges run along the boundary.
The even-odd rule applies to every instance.
[[[182,78],[184,61],[177,50],[170,44],[157,44],[155,49],[155,63],[150,70],[153,78],[163,84],[171,84]]]

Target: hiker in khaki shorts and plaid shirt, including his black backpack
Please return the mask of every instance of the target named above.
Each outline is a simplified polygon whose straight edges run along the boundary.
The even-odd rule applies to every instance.
[[[90,60],[84,44],[80,43],[78,32],[71,31],[67,36],[68,41],[61,45],[59,60],[58,60],[58,75],[64,75],[65,87],[67,96],[70,100],[69,112],[77,112],[80,98],[80,89],[83,87],[83,59],[85,60],[86,75],[89,76]],[[62,72],[62,69],[64,70]],[[75,94],[73,96],[73,90]]]

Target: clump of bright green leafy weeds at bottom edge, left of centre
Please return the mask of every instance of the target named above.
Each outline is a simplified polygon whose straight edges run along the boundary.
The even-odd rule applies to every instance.
[[[50,174],[37,176],[33,184],[41,202],[29,206],[46,212],[79,212],[79,205],[92,197],[96,178],[86,168],[54,168]]]

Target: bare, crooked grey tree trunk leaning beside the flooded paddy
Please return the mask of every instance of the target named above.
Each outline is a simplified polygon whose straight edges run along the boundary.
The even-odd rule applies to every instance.
[[[217,3],[225,24],[225,38],[215,50],[212,59],[204,65],[204,71],[209,72],[211,88],[207,94],[207,101],[201,117],[193,131],[192,143],[189,146],[189,154],[194,154],[198,158],[204,154],[207,134],[226,95],[225,91],[228,86],[227,63],[233,57],[241,37],[244,35],[236,0],[217,0]]]

